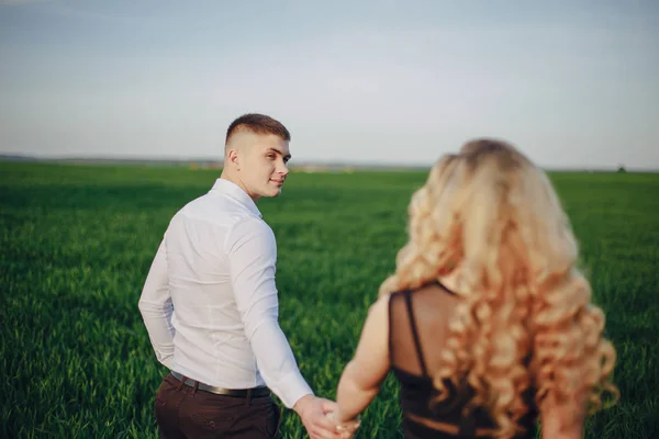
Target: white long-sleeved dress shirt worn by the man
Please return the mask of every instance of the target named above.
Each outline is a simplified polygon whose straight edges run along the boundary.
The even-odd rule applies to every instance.
[[[158,361],[205,384],[313,394],[278,323],[277,243],[254,201],[217,179],[171,218],[139,312]]]

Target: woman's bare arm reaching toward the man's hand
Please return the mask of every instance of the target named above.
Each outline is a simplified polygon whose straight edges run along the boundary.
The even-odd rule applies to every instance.
[[[376,397],[389,372],[389,296],[371,305],[353,360],[343,371],[336,390],[338,423],[359,415]]]

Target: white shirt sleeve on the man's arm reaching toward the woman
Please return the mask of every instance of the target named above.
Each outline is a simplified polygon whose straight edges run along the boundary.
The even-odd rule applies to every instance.
[[[234,225],[225,245],[236,305],[258,369],[268,387],[291,408],[313,392],[278,323],[275,235],[261,219],[249,218]]]

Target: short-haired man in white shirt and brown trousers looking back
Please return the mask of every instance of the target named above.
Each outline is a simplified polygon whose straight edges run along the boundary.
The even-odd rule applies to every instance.
[[[269,116],[236,119],[220,179],[165,232],[138,304],[156,357],[171,370],[155,403],[164,438],[278,436],[269,391],[312,439],[339,437],[326,416],[335,403],[314,396],[279,327],[277,245],[256,206],[281,193],[289,142]]]

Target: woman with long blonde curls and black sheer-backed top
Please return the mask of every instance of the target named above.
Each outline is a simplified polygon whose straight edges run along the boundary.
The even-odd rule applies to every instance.
[[[410,204],[410,240],[369,309],[337,389],[355,419],[389,371],[406,438],[581,438],[618,398],[604,314],[546,175],[479,139],[432,169]]]

